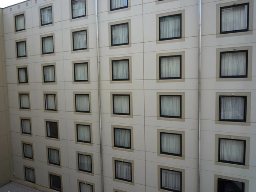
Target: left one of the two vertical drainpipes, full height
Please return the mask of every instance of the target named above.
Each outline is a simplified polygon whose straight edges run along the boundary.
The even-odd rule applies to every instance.
[[[99,28],[98,28],[98,1],[95,0],[95,24],[97,37],[97,69],[98,69],[98,99],[99,99],[99,138],[100,138],[100,167],[101,167],[101,183],[102,192],[104,192],[104,177],[103,177],[103,156],[102,156],[102,117],[101,117],[101,95],[100,95],[100,67],[99,67]]]

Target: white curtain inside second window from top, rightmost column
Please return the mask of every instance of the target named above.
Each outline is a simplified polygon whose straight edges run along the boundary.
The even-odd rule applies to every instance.
[[[221,76],[246,75],[246,52],[221,54]]]

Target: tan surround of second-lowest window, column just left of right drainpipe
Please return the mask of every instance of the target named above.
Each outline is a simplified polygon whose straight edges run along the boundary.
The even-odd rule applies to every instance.
[[[171,134],[181,134],[181,157],[175,155],[168,155],[168,154],[161,154],[160,151],[160,132],[161,133],[171,133]],[[166,130],[166,129],[157,129],[157,156],[160,157],[168,157],[173,159],[180,159],[185,160],[185,131],[173,131],[173,130]]]

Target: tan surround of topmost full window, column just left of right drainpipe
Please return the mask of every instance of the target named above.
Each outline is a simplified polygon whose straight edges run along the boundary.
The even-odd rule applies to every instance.
[[[159,17],[171,16],[181,14],[181,38],[159,41]],[[180,10],[176,12],[161,13],[156,15],[156,44],[174,43],[185,41],[185,10]]]

